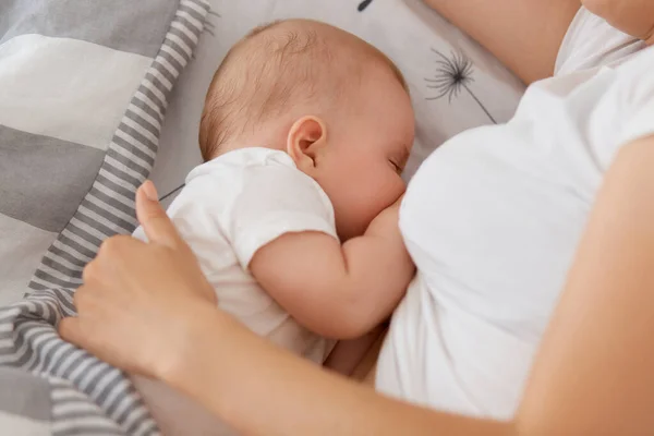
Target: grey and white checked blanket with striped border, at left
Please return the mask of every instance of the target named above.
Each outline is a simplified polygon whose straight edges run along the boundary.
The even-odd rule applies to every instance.
[[[101,241],[136,225],[207,13],[204,0],[0,2],[0,302],[31,289],[0,308],[0,434],[158,434],[124,374],[56,327]]]

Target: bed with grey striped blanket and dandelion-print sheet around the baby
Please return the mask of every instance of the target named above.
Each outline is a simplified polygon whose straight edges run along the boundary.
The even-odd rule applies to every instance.
[[[419,0],[3,1],[2,434],[158,434],[129,379],[55,327],[101,241],[136,226],[136,186],[152,178],[169,204],[201,162],[204,94],[229,47],[284,17],[340,26],[399,65],[416,112],[407,180],[448,137],[507,121],[524,90]]]

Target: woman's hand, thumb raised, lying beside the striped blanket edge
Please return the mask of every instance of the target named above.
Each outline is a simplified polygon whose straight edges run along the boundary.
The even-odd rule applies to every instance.
[[[149,243],[105,241],[75,293],[78,316],[64,318],[59,332],[122,370],[161,377],[199,328],[198,315],[216,311],[216,295],[149,181],[136,193],[136,214]]]

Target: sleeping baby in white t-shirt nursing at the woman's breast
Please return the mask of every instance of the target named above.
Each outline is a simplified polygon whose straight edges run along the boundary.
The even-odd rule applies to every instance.
[[[316,363],[385,320],[413,276],[398,228],[413,135],[402,75],[355,36],[290,20],[239,41],[206,96],[206,162],[168,210],[219,306]]]

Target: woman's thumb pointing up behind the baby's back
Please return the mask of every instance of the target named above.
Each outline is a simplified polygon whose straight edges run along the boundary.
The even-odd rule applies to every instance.
[[[157,198],[157,190],[149,180],[136,191],[136,218],[149,242],[178,247],[182,242],[172,221]]]

